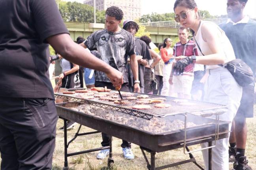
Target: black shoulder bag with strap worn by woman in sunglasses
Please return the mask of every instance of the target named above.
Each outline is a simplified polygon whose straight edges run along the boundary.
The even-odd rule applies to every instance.
[[[204,55],[195,37],[194,41],[196,42],[201,54]],[[254,80],[252,69],[241,59],[234,59],[226,64],[220,64],[219,66],[227,68],[235,78],[235,81],[237,81],[237,83],[242,87],[250,85]]]

